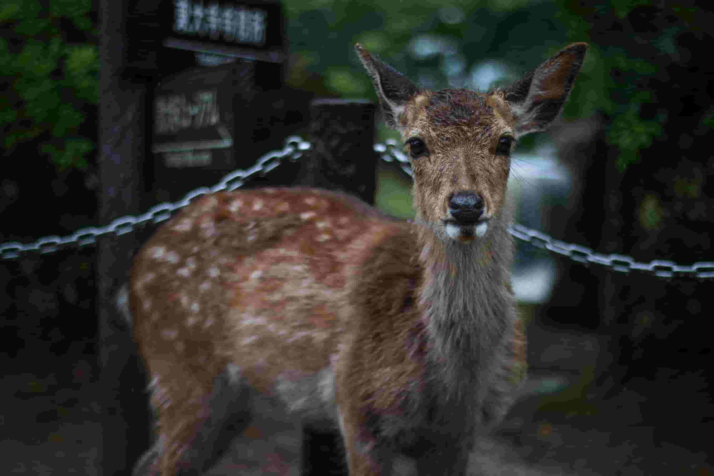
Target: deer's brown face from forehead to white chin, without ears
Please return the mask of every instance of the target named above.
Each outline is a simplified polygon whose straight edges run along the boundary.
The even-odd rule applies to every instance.
[[[515,141],[503,98],[466,89],[424,91],[400,117],[418,217],[446,239],[468,243],[498,219]]]

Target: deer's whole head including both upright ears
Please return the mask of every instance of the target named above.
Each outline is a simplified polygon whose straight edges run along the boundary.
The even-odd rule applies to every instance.
[[[516,141],[558,116],[586,49],[571,44],[512,86],[481,93],[419,88],[356,45],[411,159],[418,220],[443,240],[471,243],[488,233],[501,218]]]

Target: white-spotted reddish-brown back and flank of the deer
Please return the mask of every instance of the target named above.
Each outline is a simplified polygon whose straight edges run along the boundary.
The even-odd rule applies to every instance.
[[[407,235],[408,225],[340,193],[204,196],[136,258],[131,308],[141,353],[164,380],[174,366],[206,379],[235,368],[295,410],[321,404],[311,396],[331,401],[354,307],[351,278],[376,240],[395,233]]]

